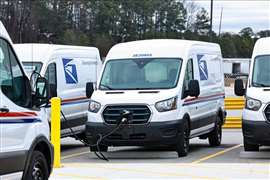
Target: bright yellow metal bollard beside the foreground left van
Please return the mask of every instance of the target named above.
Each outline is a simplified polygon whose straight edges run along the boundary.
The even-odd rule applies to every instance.
[[[61,167],[61,99],[58,97],[51,99],[51,143],[54,147],[54,168]]]

